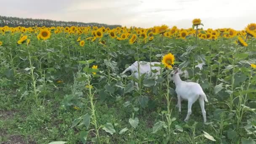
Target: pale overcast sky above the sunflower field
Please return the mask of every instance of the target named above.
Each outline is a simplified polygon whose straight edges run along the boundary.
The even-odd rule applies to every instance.
[[[153,27],[243,29],[256,23],[256,0],[1,0],[1,16]]]

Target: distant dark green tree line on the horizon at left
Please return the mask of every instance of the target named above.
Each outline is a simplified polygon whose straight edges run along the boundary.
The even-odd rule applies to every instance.
[[[75,21],[53,21],[50,19],[23,19],[18,17],[9,17],[9,16],[0,16],[0,27],[109,27],[110,29],[121,27],[121,25],[108,25],[108,24],[99,24],[99,23],[83,23]]]

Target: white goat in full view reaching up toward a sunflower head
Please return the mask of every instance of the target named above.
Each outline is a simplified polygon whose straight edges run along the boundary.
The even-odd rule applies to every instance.
[[[189,116],[192,113],[192,104],[197,101],[197,99],[199,99],[200,107],[203,114],[203,121],[204,123],[206,123],[205,102],[208,102],[208,100],[205,93],[203,92],[202,87],[198,83],[182,81],[179,75],[183,74],[183,72],[179,71],[179,69],[172,71],[172,74],[173,81],[176,85],[175,91],[178,98],[176,107],[179,107],[179,112],[181,112],[181,101],[183,99],[188,101],[187,117],[184,121],[187,122],[187,120],[189,120]]]

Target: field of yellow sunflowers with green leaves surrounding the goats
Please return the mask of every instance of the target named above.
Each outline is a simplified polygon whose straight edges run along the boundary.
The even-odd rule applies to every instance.
[[[0,27],[0,143],[256,144],[256,23],[191,25]],[[157,80],[122,74],[135,61],[161,62]],[[174,67],[206,123],[197,101],[188,122],[175,107]]]

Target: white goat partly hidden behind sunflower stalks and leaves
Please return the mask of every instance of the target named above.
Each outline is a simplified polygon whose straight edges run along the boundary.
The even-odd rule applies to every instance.
[[[156,79],[158,78],[157,75],[160,75],[160,67],[155,67],[155,64],[161,64],[160,62],[151,62],[151,69],[157,70],[156,73],[152,72],[152,76],[154,76]],[[140,75],[146,73],[147,75],[150,75],[151,73],[150,69],[150,62],[147,61],[140,61],[139,62],[139,72]],[[138,72],[138,61],[135,61],[131,66],[129,66],[127,69],[125,69],[122,74],[125,74],[125,72],[130,71],[132,74],[134,73],[134,76],[136,79],[139,79],[139,72]],[[138,88],[138,83],[135,83],[136,87]]]

